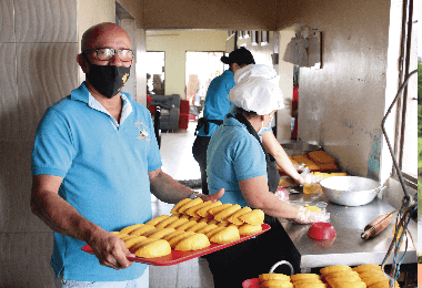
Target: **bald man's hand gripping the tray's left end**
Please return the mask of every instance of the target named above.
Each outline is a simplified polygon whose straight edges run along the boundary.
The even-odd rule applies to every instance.
[[[99,230],[92,235],[91,239],[88,245],[91,246],[102,266],[120,270],[132,265],[127,258],[131,253],[115,235]]]

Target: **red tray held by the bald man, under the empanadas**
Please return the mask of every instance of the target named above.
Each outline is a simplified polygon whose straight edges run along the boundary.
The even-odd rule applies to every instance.
[[[203,255],[207,255],[207,254],[210,254],[210,253],[213,253],[213,251],[218,251],[218,250],[224,249],[227,247],[237,245],[238,243],[248,240],[250,238],[253,238],[253,237],[255,237],[255,236],[258,236],[258,235],[260,235],[260,234],[262,234],[262,233],[268,232],[269,229],[271,229],[271,226],[268,225],[268,224],[262,224],[261,227],[262,227],[262,232],[260,232],[260,233],[257,233],[257,234],[253,234],[253,235],[248,235],[248,236],[240,236],[239,240],[227,243],[227,244],[214,244],[214,243],[211,243],[211,245],[209,247],[200,249],[200,250],[194,250],[194,251],[175,251],[175,250],[171,250],[171,254],[169,254],[167,256],[162,256],[162,257],[142,258],[142,257],[137,257],[137,256],[135,257],[128,256],[127,258],[130,261],[143,263],[143,264],[149,264],[149,265],[154,265],[154,266],[171,266],[171,265],[177,265],[177,264],[184,263],[187,260],[190,260],[190,259],[193,259],[193,258],[197,258],[197,257],[200,257],[200,256],[203,256]],[[88,254],[92,254],[93,255],[92,248],[89,245],[83,246],[81,249],[82,249],[82,251],[86,251]]]

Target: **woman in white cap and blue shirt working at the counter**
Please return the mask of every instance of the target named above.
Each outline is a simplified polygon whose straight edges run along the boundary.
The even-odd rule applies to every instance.
[[[275,71],[267,65],[249,65],[237,74],[237,85],[229,101],[237,105],[213,133],[208,152],[208,185],[210,195],[224,188],[222,203],[262,209],[271,229],[253,239],[208,256],[215,287],[239,287],[248,278],[268,272],[271,266],[287,259],[299,269],[293,244],[277,219],[298,223],[318,220],[318,214],[305,212],[280,200],[275,162],[265,151],[260,132],[283,107]]]

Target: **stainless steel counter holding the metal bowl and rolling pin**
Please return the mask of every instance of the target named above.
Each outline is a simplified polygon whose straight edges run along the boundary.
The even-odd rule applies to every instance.
[[[336,238],[333,240],[315,240],[308,236],[311,225],[300,225],[279,218],[285,232],[301,255],[302,272],[309,272],[313,267],[326,267],[331,265],[356,266],[362,264],[381,264],[393,238],[393,225],[396,214],[391,224],[375,238],[361,239],[364,227],[378,216],[393,212],[394,208],[380,198],[359,207],[346,207],[329,202],[324,195],[309,198],[303,194],[291,194],[290,200],[299,202],[325,202],[326,212],[330,213],[330,223],[334,226]],[[411,220],[408,229],[418,245],[416,223]],[[404,238],[403,238],[404,240]],[[400,258],[403,255],[405,244],[401,246]],[[399,258],[399,259],[400,259]],[[416,263],[416,250],[411,239],[404,264]],[[393,255],[388,259],[392,264]]]

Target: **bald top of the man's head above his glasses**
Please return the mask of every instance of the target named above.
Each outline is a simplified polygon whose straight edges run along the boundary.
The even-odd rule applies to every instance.
[[[91,27],[82,34],[82,51],[108,48],[109,42],[118,43],[119,49],[131,49],[128,33],[118,24],[103,22]]]

